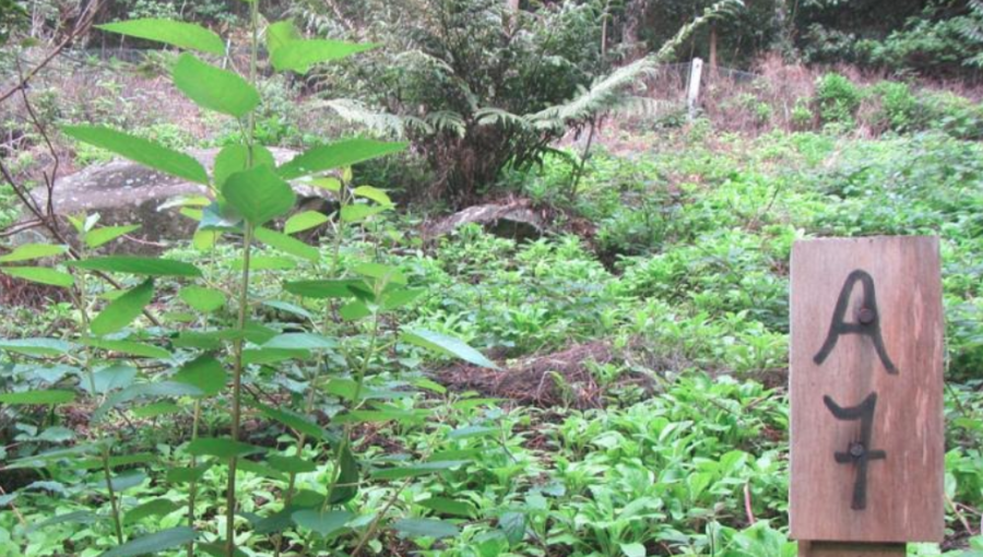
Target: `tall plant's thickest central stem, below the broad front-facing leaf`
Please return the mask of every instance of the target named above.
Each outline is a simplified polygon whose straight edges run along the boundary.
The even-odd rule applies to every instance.
[[[232,439],[239,440],[239,425],[242,418],[242,344],[241,333],[246,330],[246,316],[249,311],[249,263],[252,254],[252,225],[246,224],[246,234],[242,238],[242,282],[239,289],[239,319],[236,339],[233,349],[235,352],[235,367],[233,369],[233,415]],[[228,462],[228,484],[225,490],[226,524],[225,524],[225,553],[233,557],[236,553],[236,469],[238,459],[233,457]]]

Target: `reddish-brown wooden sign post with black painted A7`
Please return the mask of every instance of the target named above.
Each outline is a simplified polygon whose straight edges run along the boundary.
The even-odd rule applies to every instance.
[[[903,557],[944,535],[938,239],[792,250],[791,535],[800,557]]]

